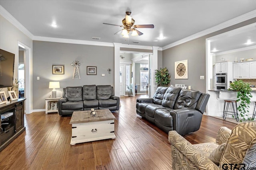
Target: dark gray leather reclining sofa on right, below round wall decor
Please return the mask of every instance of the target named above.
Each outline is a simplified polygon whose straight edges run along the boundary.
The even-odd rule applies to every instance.
[[[197,131],[210,95],[178,87],[158,87],[153,98],[139,98],[136,113],[168,133]]]

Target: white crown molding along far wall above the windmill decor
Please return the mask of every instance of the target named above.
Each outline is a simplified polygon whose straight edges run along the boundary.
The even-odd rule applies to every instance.
[[[35,41],[50,41],[50,42],[56,42],[56,43],[71,43],[71,44],[98,45],[98,46],[114,47],[113,43],[104,43],[104,42],[98,42],[98,41],[85,41],[85,40],[78,40],[78,39],[64,39],[64,38],[34,36],[33,40],[35,40]]]

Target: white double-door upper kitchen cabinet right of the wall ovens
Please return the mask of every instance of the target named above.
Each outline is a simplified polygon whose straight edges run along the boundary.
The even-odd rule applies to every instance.
[[[233,63],[233,78],[250,78],[249,63]]]

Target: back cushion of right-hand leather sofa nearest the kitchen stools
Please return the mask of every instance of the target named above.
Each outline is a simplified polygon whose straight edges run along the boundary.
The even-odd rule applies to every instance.
[[[196,90],[180,90],[180,94],[174,104],[174,109],[195,109],[202,92]]]

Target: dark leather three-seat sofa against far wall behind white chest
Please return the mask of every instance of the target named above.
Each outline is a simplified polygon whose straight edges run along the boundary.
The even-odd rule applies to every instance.
[[[59,115],[72,115],[73,111],[94,109],[119,109],[120,98],[114,96],[110,85],[84,85],[63,88],[62,98],[58,100]]]

